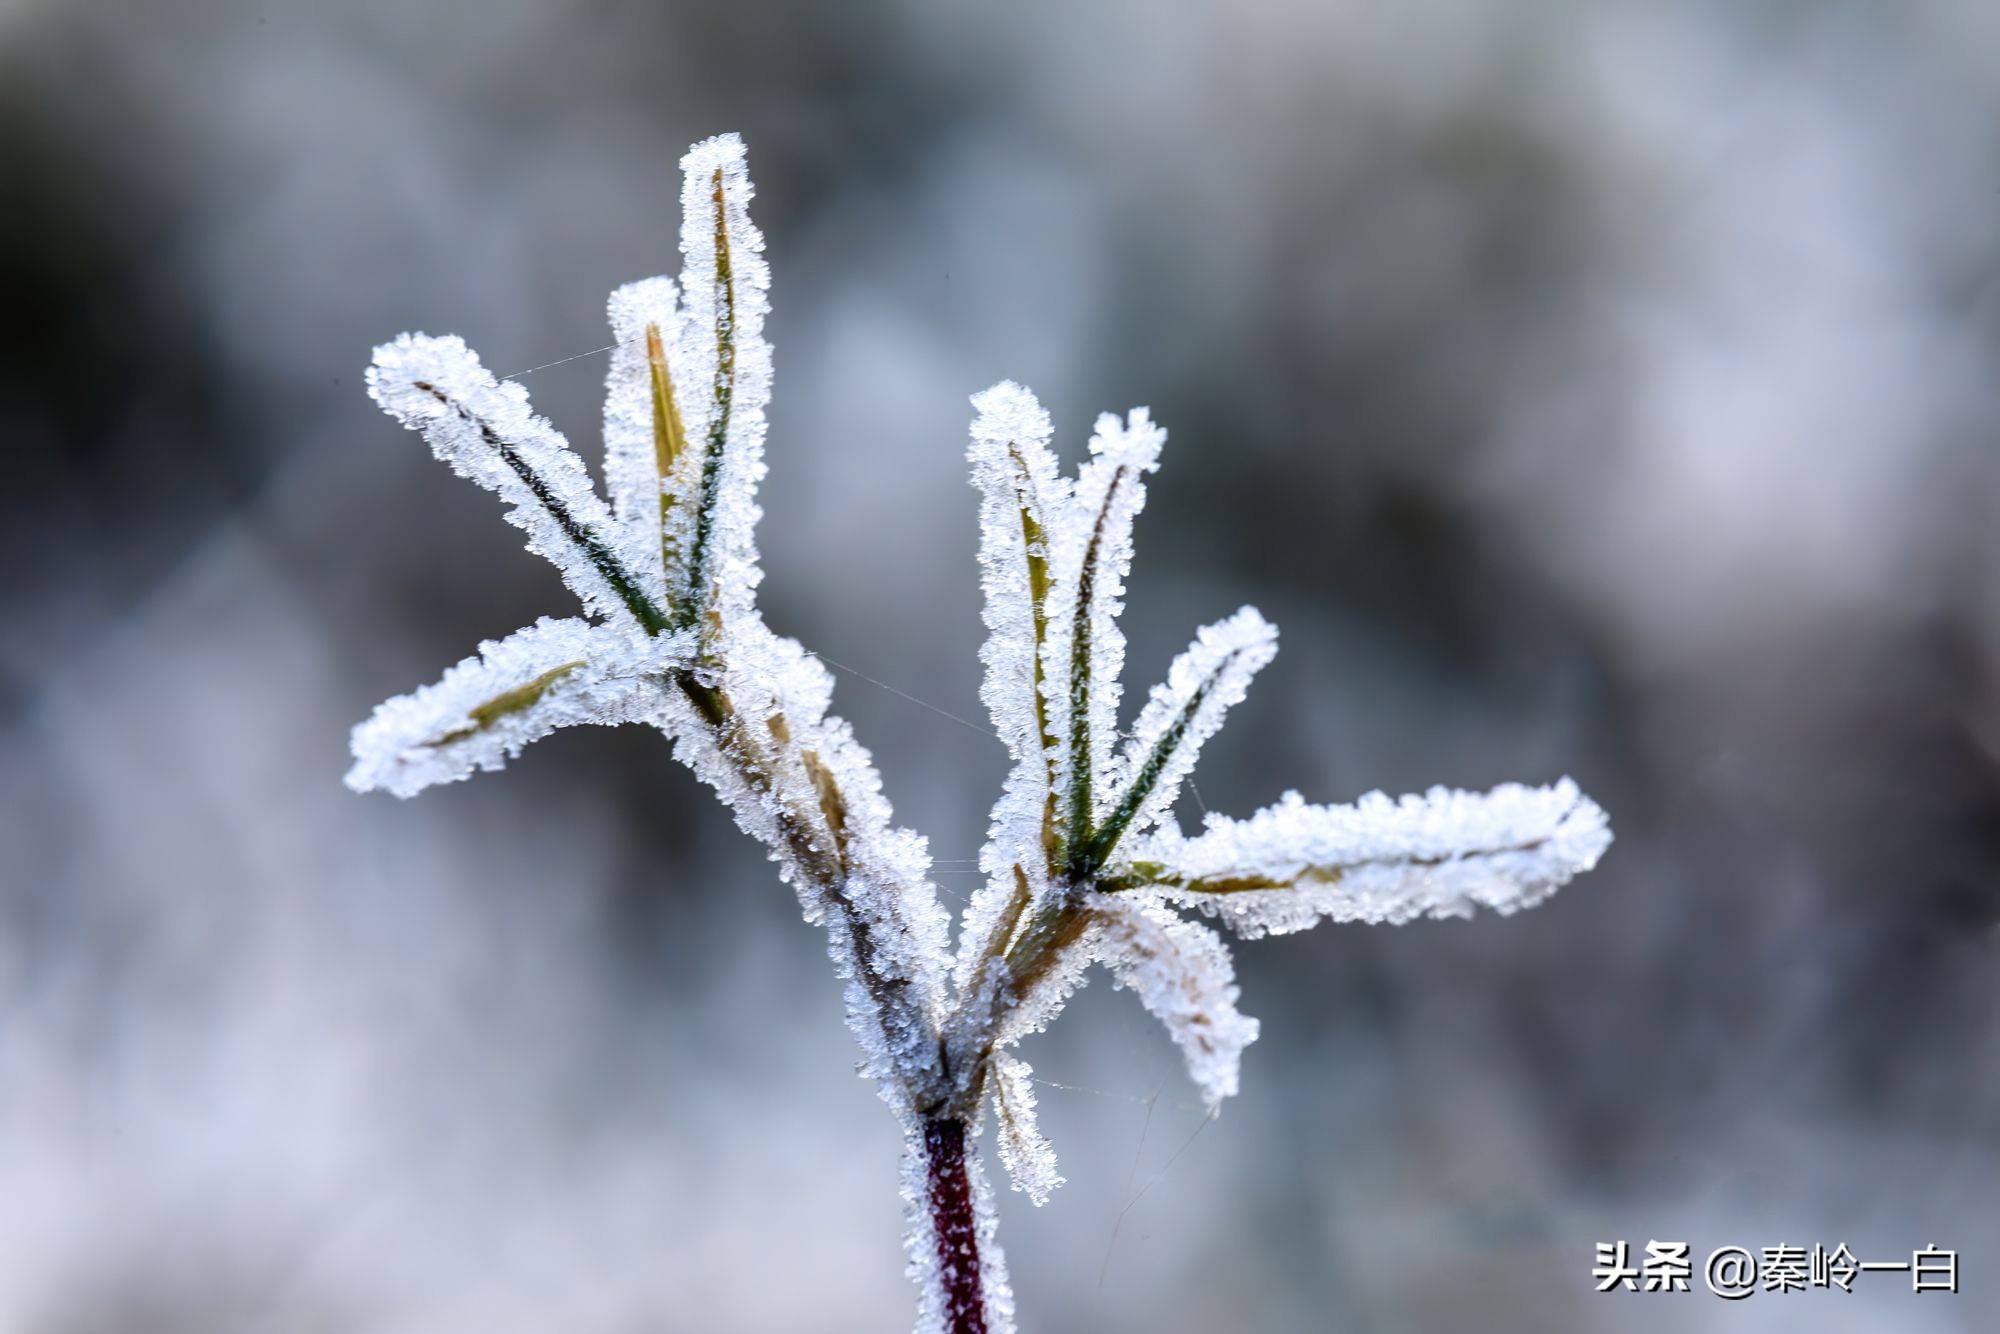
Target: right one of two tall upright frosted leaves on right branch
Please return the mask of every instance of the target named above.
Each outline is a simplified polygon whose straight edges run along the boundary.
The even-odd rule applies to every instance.
[[[1064,802],[1076,784],[1070,754],[1072,716],[1084,682],[1074,680],[1070,662],[1076,646],[1076,606],[1088,580],[1082,622],[1090,636],[1088,656],[1088,764],[1092,776],[1110,772],[1112,742],[1118,736],[1118,676],[1124,670],[1124,580],[1132,570],[1132,522],[1146,506],[1148,472],[1160,466],[1166,432],[1152,424],[1146,408],[1132,408],[1120,422],[1106,412],[1090,436],[1090,462],[1076,478],[1076,496],[1054,526],[1054,568],[1048,610],[1048,726],[1056,738],[1056,788]],[[1108,784],[1094,782],[1090,818],[1110,806]]]

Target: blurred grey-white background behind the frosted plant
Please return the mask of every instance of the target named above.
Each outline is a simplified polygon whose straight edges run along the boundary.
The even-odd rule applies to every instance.
[[[730,128],[776,628],[976,716],[966,394],[1072,462],[1150,404],[1128,688],[1284,628],[1208,806],[1568,772],[1618,830],[1514,920],[1242,946],[1208,1126],[1086,990],[1026,1330],[1992,1328],[1990,0],[0,0],[0,1328],[908,1326],[818,932],[656,734],[340,786],[570,608],[370,346],[600,348]],[[602,374],[528,378],[586,454]],[[838,706],[968,892],[1000,746]],[[1962,1294],[1598,1296],[1618,1238]]]

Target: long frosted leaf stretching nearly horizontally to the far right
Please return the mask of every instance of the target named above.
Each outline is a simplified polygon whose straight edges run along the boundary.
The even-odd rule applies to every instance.
[[[1334,922],[1466,918],[1532,908],[1604,854],[1604,812],[1564,778],[1548,788],[1432,788],[1352,806],[1286,792],[1248,820],[1210,816],[1196,838],[1166,828],[1130,852],[1134,882],[1222,918],[1242,936]]]

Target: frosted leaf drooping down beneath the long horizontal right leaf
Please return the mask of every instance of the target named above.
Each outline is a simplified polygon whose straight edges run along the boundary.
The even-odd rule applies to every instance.
[[[1222,938],[1130,892],[1096,894],[1090,906],[1104,920],[1098,954],[1114,986],[1130,986],[1166,1024],[1210,1108],[1236,1096],[1258,1022],[1236,1010],[1236,966]]]

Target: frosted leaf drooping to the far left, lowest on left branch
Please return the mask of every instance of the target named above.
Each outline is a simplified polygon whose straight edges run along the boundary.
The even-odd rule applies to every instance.
[[[542,618],[480,644],[436,684],[380,704],[354,728],[346,782],[356,792],[416,796],[502,768],[556,728],[650,720],[662,678],[690,652],[688,634],[648,638],[622,626]]]

